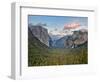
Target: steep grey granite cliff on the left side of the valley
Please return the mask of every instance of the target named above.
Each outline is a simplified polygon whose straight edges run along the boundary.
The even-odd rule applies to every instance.
[[[49,46],[49,35],[46,28],[40,25],[32,25],[31,27],[32,34],[38,38],[42,43]]]

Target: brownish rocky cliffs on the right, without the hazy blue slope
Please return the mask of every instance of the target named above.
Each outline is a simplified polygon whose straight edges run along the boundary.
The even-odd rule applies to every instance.
[[[75,48],[84,43],[87,43],[87,41],[88,41],[87,30],[82,29],[79,31],[74,31],[73,35],[71,36],[71,39],[66,39],[65,47]]]

